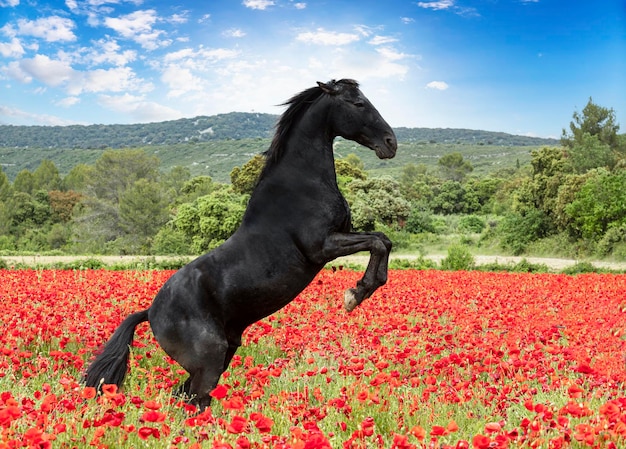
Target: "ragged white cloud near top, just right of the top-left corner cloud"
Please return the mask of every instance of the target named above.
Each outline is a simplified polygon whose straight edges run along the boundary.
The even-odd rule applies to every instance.
[[[104,24],[127,39],[137,42],[146,50],[155,50],[171,44],[171,40],[161,40],[164,31],[153,29],[158,16],[153,9],[135,11],[125,16],[106,17]]]

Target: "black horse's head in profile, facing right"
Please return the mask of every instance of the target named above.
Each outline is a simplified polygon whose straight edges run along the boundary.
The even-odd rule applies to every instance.
[[[393,129],[359,90],[356,81],[344,79],[317,84],[332,97],[331,120],[336,135],[374,150],[381,159],[396,155],[398,142]]]

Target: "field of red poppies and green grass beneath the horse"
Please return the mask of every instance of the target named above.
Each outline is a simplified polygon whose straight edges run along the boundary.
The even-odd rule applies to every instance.
[[[137,328],[120,390],[80,378],[173,271],[0,270],[0,448],[626,447],[626,275],[322,271],[251,326],[210,409]]]

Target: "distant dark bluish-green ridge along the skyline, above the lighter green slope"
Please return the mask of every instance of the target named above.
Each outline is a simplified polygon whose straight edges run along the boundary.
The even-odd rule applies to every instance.
[[[4,148],[127,148],[217,140],[266,139],[277,115],[231,112],[131,125],[14,126],[0,125]],[[557,139],[517,136],[469,129],[396,128],[398,140],[414,143],[460,143],[502,146],[556,145]]]

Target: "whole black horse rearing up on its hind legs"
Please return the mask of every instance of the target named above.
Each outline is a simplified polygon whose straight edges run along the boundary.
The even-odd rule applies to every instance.
[[[135,327],[148,320],[165,352],[189,372],[183,392],[204,409],[246,327],[288,304],[326,263],[371,253],[363,278],[345,292],[349,312],[385,284],[391,242],[382,233],[350,232],[333,140],[354,140],[384,159],[396,153],[395,134],[357,82],[317,84],[285,103],[239,229],[122,322],[87,369],[87,386],[121,386]]]

